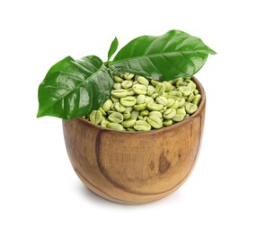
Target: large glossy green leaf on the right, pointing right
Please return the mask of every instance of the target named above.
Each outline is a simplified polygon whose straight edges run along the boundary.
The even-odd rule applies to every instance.
[[[122,47],[110,65],[130,73],[168,81],[197,73],[208,54],[216,54],[197,37],[181,30],[170,30],[159,37],[142,36]]]

